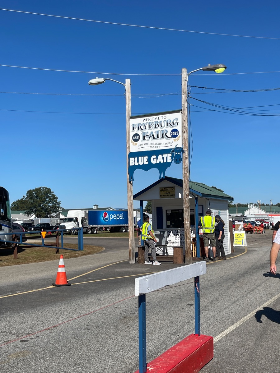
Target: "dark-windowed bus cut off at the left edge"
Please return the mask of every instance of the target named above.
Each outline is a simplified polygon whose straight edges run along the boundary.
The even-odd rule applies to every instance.
[[[12,218],[10,208],[9,192],[0,186],[0,247],[11,247],[10,242],[3,242],[5,240],[12,241],[12,235],[3,233],[12,233]]]

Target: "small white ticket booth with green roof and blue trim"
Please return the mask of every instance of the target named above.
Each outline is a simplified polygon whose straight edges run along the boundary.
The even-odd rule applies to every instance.
[[[202,232],[199,234],[198,223],[200,217],[206,214],[207,209],[212,214],[220,215],[224,220],[223,241],[225,254],[231,253],[230,234],[228,223],[228,201],[233,197],[206,184],[190,182],[190,228],[193,257],[203,256],[204,247]],[[184,247],[184,210],[183,210],[183,181],[166,176],[152,185],[136,193],[134,200],[140,201],[140,210],[143,212],[143,201],[152,201],[152,226],[155,231],[163,255],[172,255],[175,246]],[[141,214],[142,216],[142,214]],[[201,247],[202,245],[202,247]]]

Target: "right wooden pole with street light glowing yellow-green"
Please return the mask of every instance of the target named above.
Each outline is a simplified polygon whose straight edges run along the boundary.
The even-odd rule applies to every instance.
[[[189,138],[188,138],[188,112],[187,112],[187,85],[189,75],[193,72],[215,71],[216,73],[224,72],[227,68],[225,65],[208,65],[200,69],[187,73],[187,69],[182,69],[182,145],[185,151],[183,156],[183,208],[184,208],[184,232],[185,232],[185,263],[192,263],[192,248],[190,239],[190,186],[189,186]],[[197,222],[198,223],[198,222]],[[196,226],[197,229],[197,226]]]

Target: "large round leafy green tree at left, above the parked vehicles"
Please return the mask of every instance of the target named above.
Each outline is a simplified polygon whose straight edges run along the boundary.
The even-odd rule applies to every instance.
[[[20,200],[12,203],[11,208],[21,207],[25,214],[35,214],[36,217],[50,217],[59,209],[60,201],[54,192],[46,186],[29,189]]]

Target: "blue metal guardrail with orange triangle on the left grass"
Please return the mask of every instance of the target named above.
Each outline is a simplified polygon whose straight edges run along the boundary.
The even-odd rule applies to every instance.
[[[63,250],[71,250],[71,251],[83,251],[84,250],[84,233],[83,233],[83,227],[79,227],[77,229],[75,229],[75,231],[78,231],[78,249],[71,249],[71,248],[67,248],[67,247],[64,247],[63,246],[63,232],[68,232],[69,229],[57,229],[55,231],[53,230],[47,230],[47,231],[26,231],[26,232],[12,232],[12,233],[0,233],[0,239],[1,239],[1,236],[6,236],[6,235],[10,235],[12,236],[12,241],[9,241],[9,240],[1,240],[3,242],[7,242],[7,243],[11,243],[13,244],[13,249],[14,249],[14,259],[18,259],[18,245],[23,245],[23,246],[32,246],[32,247],[47,247],[47,248],[54,248],[56,249],[56,254],[59,252],[59,249],[63,249]],[[31,233],[32,232],[32,233]],[[23,242],[22,241],[22,236],[25,235],[25,234],[34,234],[35,232],[38,232],[40,233],[40,236],[35,236],[35,237],[24,237],[26,240]],[[42,232],[46,232],[46,235],[45,237],[43,238],[43,236],[41,235]],[[49,233],[51,232],[51,235],[49,235]],[[60,232],[60,234],[59,234]],[[35,233],[36,234],[36,233]],[[18,236],[19,236],[19,240],[18,240]],[[52,246],[52,245],[46,245],[45,244],[45,239],[49,239],[49,238],[54,238],[56,239],[56,246]],[[59,237],[61,238],[61,245],[60,245],[60,242],[59,242]],[[36,243],[28,243],[26,241],[28,241],[28,239],[38,239],[38,238],[41,238],[42,239],[42,245],[39,245],[39,244],[36,244]]]

